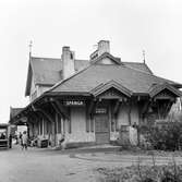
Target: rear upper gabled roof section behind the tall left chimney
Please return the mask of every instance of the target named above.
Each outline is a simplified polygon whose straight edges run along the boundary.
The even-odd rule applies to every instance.
[[[88,65],[86,60],[75,60],[75,71]],[[62,61],[54,58],[32,57],[28,64],[25,96],[29,95],[32,80],[35,84],[53,86],[62,80]]]

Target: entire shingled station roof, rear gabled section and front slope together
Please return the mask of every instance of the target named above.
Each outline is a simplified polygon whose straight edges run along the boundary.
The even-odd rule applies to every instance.
[[[97,64],[97,61],[104,58],[111,59],[116,64]],[[52,92],[89,92],[97,85],[105,84],[110,80],[118,82],[132,93],[148,93],[153,84],[161,84],[163,82],[169,82],[175,86],[180,85],[172,81],[155,76],[145,63],[121,62],[120,59],[110,53],[104,53],[94,60],[92,65],[89,65],[88,60],[75,60],[75,71],[78,72],[83,69],[85,70],[71,76],[71,80],[61,82],[61,59],[32,57],[28,65],[25,95],[29,95],[33,78],[35,84],[48,85],[50,87],[56,85]]]

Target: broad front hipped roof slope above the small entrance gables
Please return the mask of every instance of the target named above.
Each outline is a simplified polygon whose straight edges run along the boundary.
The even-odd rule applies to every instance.
[[[148,90],[153,84],[163,84],[165,82],[173,86],[182,87],[181,84],[175,82],[137,71],[122,64],[92,64],[78,74],[57,84],[49,92],[89,93],[89,90],[96,88],[100,84],[109,82],[110,80],[119,83],[134,94],[149,94]]]

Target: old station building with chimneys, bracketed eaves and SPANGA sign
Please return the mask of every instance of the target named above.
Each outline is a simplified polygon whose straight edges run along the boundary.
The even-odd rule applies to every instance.
[[[27,119],[29,136],[58,146],[108,144],[122,126],[165,119],[182,84],[156,76],[145,62],[123,62],[100,40],[89,60],[80,60],[70,47],[60,59],[29,53],[26,106],[13,120]]]

